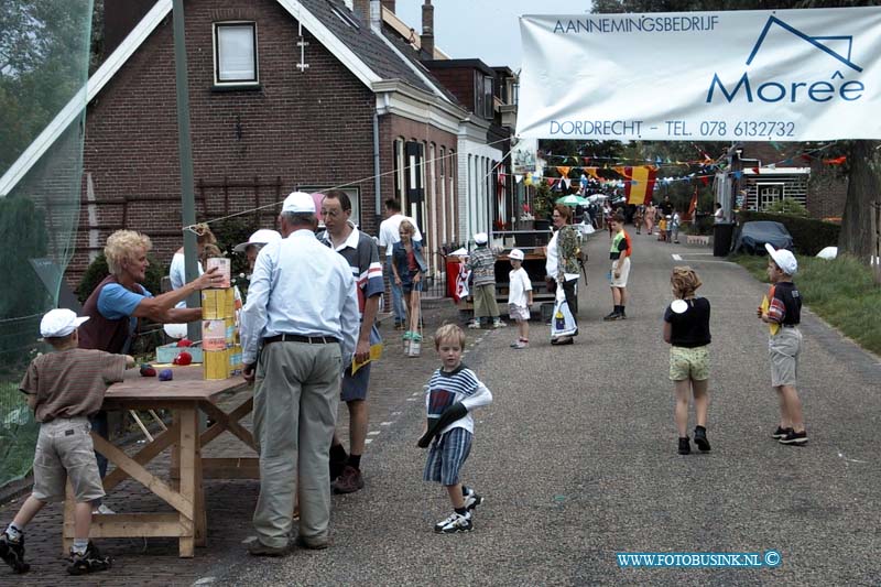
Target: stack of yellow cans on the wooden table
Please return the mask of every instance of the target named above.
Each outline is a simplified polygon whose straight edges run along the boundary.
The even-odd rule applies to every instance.
[[[218,267],[222,287],[202,291],[203,378],[227,379],[241,373],[241,345],[236,327],[236,294],[230,287],[229,259],[209,259]]]

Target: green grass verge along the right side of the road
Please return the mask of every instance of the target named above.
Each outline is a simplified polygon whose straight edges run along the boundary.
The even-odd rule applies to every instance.
[[[768,282],[768,257],[737,254],[729,259]],[[881,355],[881,287],[869,267],[846,256],[831,261],[798,257],[794,281],[805,305],[817,316],[862,348]]]

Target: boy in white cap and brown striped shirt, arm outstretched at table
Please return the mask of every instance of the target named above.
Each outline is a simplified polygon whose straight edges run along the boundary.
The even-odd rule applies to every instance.
[[[40,334],[54,352],[36,357],[28,367],[19,389],[40,422],[34,456],[34,488],[19,513],[0,534],[0,558],[15,573],[26,573],[24,528],[48,501],[64,501],[69,480],[76,497],[74,545],[67,572],[84,575],[110,568],[89,541],[91,502],[104,497],[98,463],[89,435],[88,416],[100,410],[110,383],[122,381],[134,367],[128,355],[78,348],[77,328],[88,317],[69,309],[52,309],[40,323]]]

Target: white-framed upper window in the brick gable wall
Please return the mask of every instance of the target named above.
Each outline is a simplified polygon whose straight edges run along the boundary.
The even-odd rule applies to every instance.
[[[257,23],[214,24],[214,83],[216,86],[255,86]]]

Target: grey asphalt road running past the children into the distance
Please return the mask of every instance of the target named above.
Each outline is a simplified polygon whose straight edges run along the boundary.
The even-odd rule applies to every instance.
[[[415,441],[428,373],[414,373],[414,395],[371,444],[367,489],[334,498],[333,546],[248,558],[214,575],[215,583],[881,583],[878,358],[805,312],[798,389],[809,443],[780,445],[770,437],[777,402],[766,329],[754,317],[765,286],[708,248],[645,235],[633,242],[628,320],[601,320],[611,296],[608,238],[599,233],[589,244],[575,345],[550,346],[547,327],[536,322],[525,351],[508,347],[511,328],[469,333],[466,362],[494,395],[476,416],[464,470],[466,483],[486,497],[474,532],[432,531],[449,504],[443,488],[422,481],[425,453]],[[685,263],[697,269],[699,294],[713,304],[713,450],[679,456],[661,325],[670,271]],[[775,568],[620,568],[616,557],[769,550],[780,553]]]

